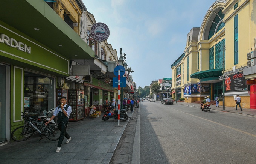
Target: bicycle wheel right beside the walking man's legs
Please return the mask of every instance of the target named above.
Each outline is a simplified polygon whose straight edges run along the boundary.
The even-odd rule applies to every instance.
[[[61,131],[57,125],[51,124],[45,127],[44,134],[49,140],[56,141],[61,136]]]

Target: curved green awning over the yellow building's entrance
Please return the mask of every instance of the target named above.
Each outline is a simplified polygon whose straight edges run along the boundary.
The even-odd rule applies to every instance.
[[[210,70],[206,70],[206,71],[200,71],[200,72],[196,72],[194,74],[191,74],[190,77],[191,78],[197,78],[199,80],[201,79],[212,79],[212,80],[216,80],[216,78],[219,78],[219,76],[222,75],[222,71],[223,69],[210,69]]]

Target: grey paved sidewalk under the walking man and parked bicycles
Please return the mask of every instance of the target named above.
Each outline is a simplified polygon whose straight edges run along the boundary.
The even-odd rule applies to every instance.
[[[128,111],[129,117],[132,116]],[[72,137],[69,144],[66,138],[60,152],[55,152],[57,141],[50,141],[45,136],[34,134],[26,141],[11,141],[0,146],[1,164],[32,164],[32,163],[61,163],[61,164],[108,164],[122,137],[129,119],[103,121],[102,116],[91,119],[85,118],[78,122],[69,122],[67,132]]]

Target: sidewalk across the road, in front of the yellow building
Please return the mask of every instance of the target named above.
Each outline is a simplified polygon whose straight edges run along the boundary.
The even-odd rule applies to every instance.
[[[175,102],[174,102],[174,104],[175,104]],[[197,104],[197,103],[177,102],[177,104],[200,108],[200,104]],[[226,107],[225,106],[225,110],[223,110],[222,106],[219,106],[219,108],[216,108],[215,105],[211,105],[211,110],[218,110],[218,111],[223,111],[223,112],[232,112],[232,113],[239,113],[239,114],[247,114],[247,115],[251,115],[251,116],[256,116],[256,109],[242,108],[242,111],[240,110],[239,107],[238,107],[238,110],[235,110],[235,109],[236,109],[236,107]]]

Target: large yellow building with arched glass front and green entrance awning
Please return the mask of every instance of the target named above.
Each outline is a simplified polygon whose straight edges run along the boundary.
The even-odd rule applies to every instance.
[[[253,85],[246,81],[256,77],[256,69],[246,56],[256,47],[255,8],[253,0],[217,0],[209,7],[198,34],[198,28],[189,32],[184,53],[171,66],[173,98],[194,102],[218,96],[235,107],[239,94],[242,108],[253,108]]]

